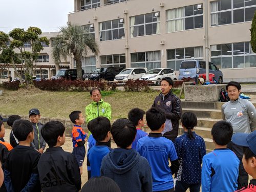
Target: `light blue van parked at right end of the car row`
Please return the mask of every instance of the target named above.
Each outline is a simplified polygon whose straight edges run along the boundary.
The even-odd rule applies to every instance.
[[[205,74],[205,63],[205,61],[200,60],[182,61],[179,70],[179,79],[182,79],[183,77],[194,78],[196,75],[199,76],[200,74]],[[215,75],[215,80],[218,83],[223,82],[222,72],[212,62],[209,62],[209,73],[213,73]]]

